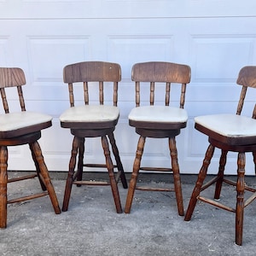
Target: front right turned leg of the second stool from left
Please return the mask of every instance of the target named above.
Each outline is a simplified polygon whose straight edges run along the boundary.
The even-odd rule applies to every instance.
[[[113,162],[110,157],[110,151],[108,147],[108,139],[106,136],[102,136],[102,148],[106,158],[106,164],[108,168],[109,181],[113,193],[113,201],[116,207],[117,213],[122,213],[121,201],[119,198],[119,189],[113,173]]]

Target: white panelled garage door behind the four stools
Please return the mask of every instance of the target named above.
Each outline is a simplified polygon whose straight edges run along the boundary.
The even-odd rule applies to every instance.
[[[255,9],[253,0],[0,0],[0,66],[23,68],[27,110],[54,117],[53,127],[40,139],[49,170],[67,171],[73,139],[59,122],[69,106],[62,83],[65,65],[90,60],[121,65],[121,114],[115,136],[125,172],[131,172],[137,147],[137,134],[127,122],[135,98],[131,66],[172,61],[192,69],[185,103],[189,122],[177,137],[177,149],[181,172],[197,173],[207,137],[195,131],[193,119],[236,112],[237,73],[256,64]],[[254,99],[249,97],[248,108]],[[27,153],[24,147],[9,148],[9,169],[33,169]],[[103,160],[98,140],[90,140],[86,153],[91,160]],[[229,173],[236,173],[236,154],[230,156]],[[149,139],[143,161],[169,166],[166,140]],[[218,168],[218,158],[212,162],[209,172]],[[247,174],[253,172],[249,154]]]

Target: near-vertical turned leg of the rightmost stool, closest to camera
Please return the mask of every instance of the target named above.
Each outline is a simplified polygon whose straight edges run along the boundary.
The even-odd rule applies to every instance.
[[[242,243],[242,226],[244,212],[244,174],[245,174],[245,153],[239,153],[237,159],[237,183],[236,183],[236,244]]]

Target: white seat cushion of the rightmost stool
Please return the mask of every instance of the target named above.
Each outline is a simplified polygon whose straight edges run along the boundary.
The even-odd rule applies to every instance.
[[[224,137],[256,136],[256,119],[237,114],[212,114],[195,117],[195,124]]]

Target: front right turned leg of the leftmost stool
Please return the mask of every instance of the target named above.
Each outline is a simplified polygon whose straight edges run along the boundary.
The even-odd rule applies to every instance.
[[[40,173],[42,174],[42,177],[44,178],[44,184],[49,193],[49,198],[52,203],[52,206],[54,207],[55,213],[59,214],[59,213],[61,213],[61,209],[59,207],[58,199],[55,195],[55,189],[54,189],[54,187],[50,181],[50,178],[49,178],[48,169],[44,163],[44,156],[42,154],[42,150],[41,150],[38,142],[31,143],[31,147],[32,147],[32,152],[35,155],[35,158],[38,162]]]

